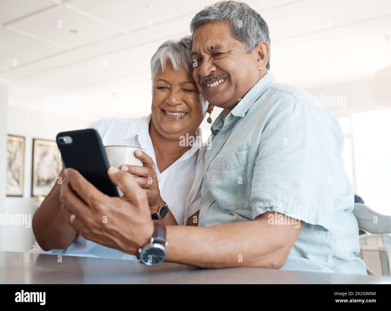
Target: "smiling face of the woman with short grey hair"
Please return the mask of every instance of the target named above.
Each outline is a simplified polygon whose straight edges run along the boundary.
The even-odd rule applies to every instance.
[[[165,70],[158,70],[152,91],[152,122],[156,131],[170,140],[194,135],[205,117],[208,105],[201,103],[192,74],[174,71],[167,60]]]

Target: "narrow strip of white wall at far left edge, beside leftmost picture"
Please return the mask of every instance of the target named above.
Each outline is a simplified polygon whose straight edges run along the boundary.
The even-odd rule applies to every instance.
[[[7,117],[8,87],[0,84],[0,214],[5,210],[5,150],[6,150],[6,117]],[[4,245],[4,227],[0,225],[0,250]]]

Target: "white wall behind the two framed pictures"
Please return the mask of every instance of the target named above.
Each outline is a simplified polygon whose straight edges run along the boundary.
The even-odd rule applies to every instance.
[[[2,118],[3,114],[1,113]],[[24,156],[24,183],[23,197],[5,198],[4,211],[13,214],[34,214],[33,198],[31,197],[31,174],[32,174],[32,139],[42,138],[55,140],[57,133],[73,129],[83,129],[90,124],[91,120],[79,119],[77,117],[61,117],[52,113],[28,110],[16,106],[8,106],[6,132],[13,135],[25,137]],[[5,119],[5,115],[4,115]],[[0,122],[4,124],[4,122]],[[0,125],[3,126],[3,125]],[[5,131],[5,129],[4,129]],[[0,131],[0,133],[4,133]],[[3,135],[3,134],[2,134]],[[2,142],[3,144],[3,142]],[[0,146],[5,150],[5,144]],[[4,160],[2,160],[4,162]],[[0,169],[5,167],[5,162],[0,162]],[[5,174],[0,174],[4,176]],[[0,178],[0,185],[4,178]],[[0,187],[0,197],[4,198],[4,186]],[[34,242],[32,228],[25,228],[23,225],[4,226],[3,250],[14,252],[27,252]]]

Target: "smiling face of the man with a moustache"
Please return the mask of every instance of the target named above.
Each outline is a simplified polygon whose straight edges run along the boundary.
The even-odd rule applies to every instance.
[[[228,114],[259,81],[257,49],[246,54],[227,22],[206,23],[193,35],[193,77],[200,93]]]

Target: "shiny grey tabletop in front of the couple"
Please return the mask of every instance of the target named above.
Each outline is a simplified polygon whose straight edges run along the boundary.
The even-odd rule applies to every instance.
[[[391,284],[391,277],[258,268],[199,269],[163,262],[147,267],[120,259],[0,252],[2,284]]]

